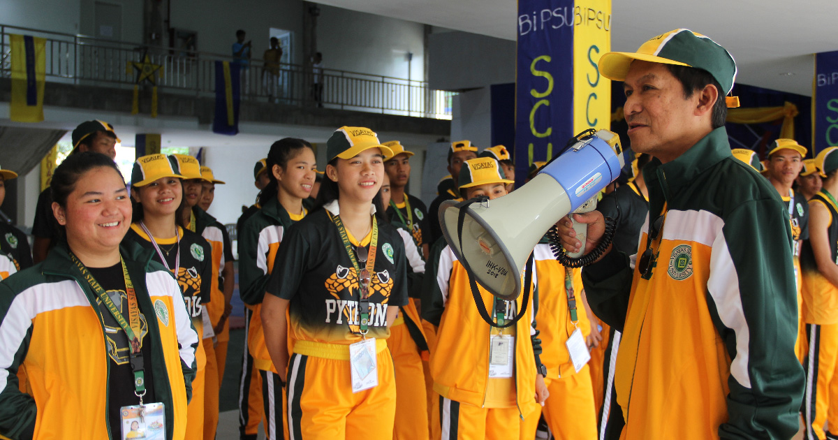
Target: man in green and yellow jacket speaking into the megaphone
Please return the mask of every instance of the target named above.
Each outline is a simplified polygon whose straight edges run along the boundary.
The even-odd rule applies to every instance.
[[[594,313],[623,332],[622,438],[793,437],[804,375],[791,246],[778,240],[791,231],[777,192],[727,142],[735,61],[677,29],[604,54],[599,71],[624,81],[631,147],[654,157],[636,255],[609,246],[582,270]],[[573,218],[597,248],[603,215]],[[557,229],[566,251],[582,247],[570,220]]]

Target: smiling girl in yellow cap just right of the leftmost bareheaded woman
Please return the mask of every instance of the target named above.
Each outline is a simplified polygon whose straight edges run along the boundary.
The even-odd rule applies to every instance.
[[[131,197],[134,203],[132,225],[126,243],[137,243],[154,252],[153,260],[163,264],[177,278],[192,325],[204,339],[204,327],[210,327],[204,303],[211,300],[212,248],[198,234],[178,225],[184,203],[184,176],[178,160],[164,154],[137,158],[131,173]],[[206,324],[206,325],[205,325]],[[211,328],[209,329],[211,331]],[[215,364],[215,355],[211,360]],[[192,400],[187,412],[186,438],[204,437],[204,390],[207,355],[204,344],[195,353],[197,373]],[[215,374],[215,373],[214,373]],[[217,376],[215,380],[217,381]],[[213,380],[209,377],[209,380]]]

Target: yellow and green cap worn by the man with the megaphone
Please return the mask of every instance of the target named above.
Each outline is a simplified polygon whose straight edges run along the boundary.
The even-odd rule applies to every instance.
[[[632,61],[685,65],[706,70],[722,85],[724,95],[736,81],[736,61],[725,48],[690,29],[675,29],[652,37],[637,52],[608,52],[599,59],[599,73],[609,80],[623,81]]]

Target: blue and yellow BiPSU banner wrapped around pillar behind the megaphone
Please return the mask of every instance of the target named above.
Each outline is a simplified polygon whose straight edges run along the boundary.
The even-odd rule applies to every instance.
[[[611,0],[519,0],[515,176],[588,128],[611,126]]]

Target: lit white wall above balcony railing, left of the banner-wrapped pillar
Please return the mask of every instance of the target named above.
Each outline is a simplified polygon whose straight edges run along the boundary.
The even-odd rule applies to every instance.
[[[406,54],[411,52],[410,78],[425,80],[422,23],[323,4],[318,7],[317,47],[326,68],[406,79]]]

